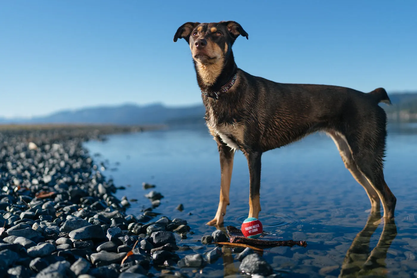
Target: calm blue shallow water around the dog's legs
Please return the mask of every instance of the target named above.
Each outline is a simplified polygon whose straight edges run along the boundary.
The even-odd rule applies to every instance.
[[[165,196],[155,211],[171,219],[187,220],[195,233],[179,244],[199,245],[201,236],[215,230],[205,223],[214,217],[219,202],[219,154],[204,127],[118,134],[108,139],[87,142],[85,147],[90,154],[100,154],[95,161],[107,160],[103,172],[106,177],[113,178],[117,186],[127,186],[118,191],[118,197],[138,199],[131,202],[128,213],[140,214],[150,205],[141,186],[149,182]],[[264,258],[288,277],[417,276],[416,155],[417,126],[390,125],[384,174],[397,197],[397,207],[395,222],[387,223],[383,230],[383,221],[369,216],[370,203],[364,189],[344,167],[336,146],[326,135],[313,134],[264,153],[259,215],[264,230],[272,233],[269,238],[308,243],[306,248],[266,249]],[[247,162],[238,152],[225,226],[240,227],[249,212],[248,199]],[[180,203],[185,207],[183,212],[175,210]],[[212,248],[204,246],[198,252]],[[202,273],[183,271],[195,277],[239,273],[239,262],[233,260],[229,248],[223,249],[223,258],[206,266]]]

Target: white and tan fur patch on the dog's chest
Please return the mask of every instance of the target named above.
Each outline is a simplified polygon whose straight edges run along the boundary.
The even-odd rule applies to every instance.
[[[207,109],[206,122],[212,135],[218,135],[221,141],[234,151],[239,149],[239,145],[243,145],[244,126],[242,124],[236,121],[221,121],[211,107]]]

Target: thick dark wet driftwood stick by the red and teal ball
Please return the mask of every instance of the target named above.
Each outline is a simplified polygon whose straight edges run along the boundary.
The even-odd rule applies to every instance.
[[[307,243],[304,240],[260,240],[256,238],[246,238],[242,231],[233,227],[227,226],[226,227],[227,233],[229,234],[230,243],[239,243],[239,244],[246,244],[251,246],[256,246],[258,248],[272,248],[276,246],[289,246],[292,247],[294,245],[299,245],[302,247],[306,247]]]

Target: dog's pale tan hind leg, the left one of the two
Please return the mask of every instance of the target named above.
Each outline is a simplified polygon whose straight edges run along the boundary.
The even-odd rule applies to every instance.
[[[352,176],[356,179],[359,184],[362,185],[364,190],[367,192],[369,201],[371,201],[371,213],[376,213],[380,211],[380,202],[378,193],[374,190],[372,185],[368,182],[368,179],[362,174],[359,170],[357,164],[355,163],[352,157],[352,151],[349,147],[349,144],[346,141],[346,138],[335,131],[328,131],[327,134],[333,139],[334,143],[339,149],[340,156],[344,162],[345,167],[349,170]]]

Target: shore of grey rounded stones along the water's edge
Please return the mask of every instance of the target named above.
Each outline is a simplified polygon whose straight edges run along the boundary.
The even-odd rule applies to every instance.
[[[193,233],[183,219],[155,211],[163,195],[141,215],[126,212],[126,197],[100,172],[82,143],[106,134],[139,131],[129,127],[49,126],[0,128],[0,277],[205,277],[202,269],[221,258],[216,230],[198,246],[181,245]],[[186,250],[195,252],[182,255]],[[278,277],[250,249],[234,248],[241,274]],[[192,268],[196,271],[184,272]]]

